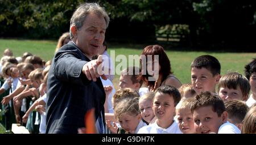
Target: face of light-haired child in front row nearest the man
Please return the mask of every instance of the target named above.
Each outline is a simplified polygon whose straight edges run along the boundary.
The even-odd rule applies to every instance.
[[[141,121],[141,114],[131,116],[129,113],[123,113],[122,116],[118,118],[118,121],[122,129],[128,131],[129,133],[134,133],[139,121]]]

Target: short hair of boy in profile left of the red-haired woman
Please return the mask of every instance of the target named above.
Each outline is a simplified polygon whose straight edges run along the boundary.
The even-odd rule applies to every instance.
[[[133,82],[133,84],[135,83],[139,83],[141,87],[142,86],[142,83],[143,83],[143,80],[139,78],[140,72],[141,70],[139,70],[139,67],[135,67],[135,66],[130,66],[130,67],[127,67],[127,69],[123,70],[121,72],[121,75],[129,75],[131,76],[131,82]]]

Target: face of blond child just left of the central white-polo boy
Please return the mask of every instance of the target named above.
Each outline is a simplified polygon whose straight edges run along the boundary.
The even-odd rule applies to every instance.
[[[139,110],[141,110],[141,116],[144,121],[148,123],[155,117],[152,109],[152,100],[144,99],[139,101]]]

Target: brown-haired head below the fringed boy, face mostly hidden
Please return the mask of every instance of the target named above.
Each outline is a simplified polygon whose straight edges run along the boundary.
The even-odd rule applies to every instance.
[[[241,100],[228,100],[225,102],[226,111],[228,112],[228,121],[242,129],[243,119],[249,107]]]

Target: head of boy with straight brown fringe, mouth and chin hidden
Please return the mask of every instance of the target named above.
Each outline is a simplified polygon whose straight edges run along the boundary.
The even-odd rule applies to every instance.
[[[238,72],[229,72],[223,75],[218,82],[218,95],[223,101],[246,101],[250,93],[249,81]]]

